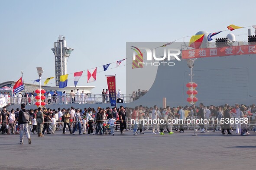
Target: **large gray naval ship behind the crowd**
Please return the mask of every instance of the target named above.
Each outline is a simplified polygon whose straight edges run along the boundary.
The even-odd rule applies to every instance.
[[[226,38],[216,38],[216,43],[211,43],[207,41],[207,32],[200,31],[196,35],[199,34],[205,34],[201,49],[189,50],[186,43],[182,42],[181,61],[175,60],[175,66],[158,66],[156,78],[149,91],[126,106],[135,107],[141,104],[152,107],[156,104],[162,107],[163,98],[166,98],[166,105],[171,107],[189,105],[186,84],[191,82],[191,69],[188,67],[188,61],[194,59],[193,82],[198,85],[195,88],[198,91],[196,105],[201,102],[206,106],[226,103],[255,104],[255,43],[237,42],[233,34],[228,34]],[[256,41],[256,36],[249,35],[249,38],[250,41]],[[199,54],[203,50],[206,50],[206,53]],[[210,50],[215,50],[216,53],[211,55]],[[199,53],[190,57],[188,54],[192,51]]]

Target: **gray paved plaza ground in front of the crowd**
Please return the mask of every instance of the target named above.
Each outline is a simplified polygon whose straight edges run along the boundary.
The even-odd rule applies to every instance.
[[[133,136],[32,134],[20,145],[19,135],[0,135],[0,169],[90,170],[238,170],[255,169],[256,133],[221,135],[220,131],[192,136],[192,130],[172,135]],[[26,137],[25,137],[26,138]]]

